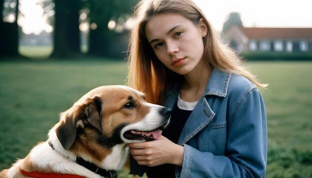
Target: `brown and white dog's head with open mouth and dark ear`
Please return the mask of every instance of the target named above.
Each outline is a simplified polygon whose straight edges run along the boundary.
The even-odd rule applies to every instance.
[[[76,143],[89,144],[88,149],[112,148],[157,139],[169,116],[169,108],[148,103],[138,90],[103,86],[89,91],[61,113],[54,130],[65,150]]]

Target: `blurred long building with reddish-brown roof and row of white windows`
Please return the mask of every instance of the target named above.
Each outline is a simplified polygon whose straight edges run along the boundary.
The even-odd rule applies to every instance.
[[[241,52],[312,53],[312,28],[258,28],[232,26],[224,35]]]

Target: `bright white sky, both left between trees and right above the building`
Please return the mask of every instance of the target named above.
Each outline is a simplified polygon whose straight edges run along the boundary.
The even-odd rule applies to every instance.
[[[37,0],[20,0],[24,17],[19,24],[26,34],[39,34],[53,29],[46,24],[46,14],[36,5]],[[213,25],[222,31],[231,12],[240,13],[245,27],[310,27],[312,28],[312,0],[193,0]]]

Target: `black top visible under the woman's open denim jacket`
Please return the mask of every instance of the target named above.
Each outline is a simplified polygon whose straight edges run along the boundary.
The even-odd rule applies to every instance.
[[[182,110],[175,103],[170,117],[170,123],[165,130],[162,131],[164,137],[177,143],[182,129],[191,114],[191,110]],[[175,178],[175,165],[163,164],[156,167],[150,167],[147,172],[149,178]]]

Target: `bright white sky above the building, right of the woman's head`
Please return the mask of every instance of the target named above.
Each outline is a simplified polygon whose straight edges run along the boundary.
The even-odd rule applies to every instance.
[[[231,12],[244,27],[312,28],[312,0],[193,0],[215,30],[222,31]]]

